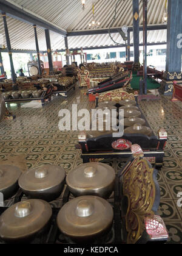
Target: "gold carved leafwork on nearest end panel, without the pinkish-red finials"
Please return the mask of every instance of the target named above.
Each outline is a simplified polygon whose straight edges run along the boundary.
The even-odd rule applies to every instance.
[[[138,155],[122,179],[123,194],[129,202],[126,214],[127,244],[135,244],[146,230],[146,218],[155,215],[152,211],[155,202],[153,168]]]

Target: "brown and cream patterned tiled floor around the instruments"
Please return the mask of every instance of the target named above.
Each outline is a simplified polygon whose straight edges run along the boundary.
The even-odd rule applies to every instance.
[[[44,108],[24,108],[12,104],[8,108],[16,115],[14,121],[0,123],[0,159],[9,155],[25,155],[27,168],[42,163],[62,166],[66,172],[82,163],[81,152],[75,149],[78,132],[61,132],[58,129],[59,110],[92,108],[83,91],[77,89],[65,101],[54,98]],[[164,166],[158,173],[161,188],[159,213],[169,230],[168,243],[182,243],[182,208],[177,206],[178,192],[182,192],[182,102],[171,102],[170,97],[158,101],[142,101],[143,109],[152,129],[157,133],[160,127],[168,132]],[[119,160],[107,160],[118,171],[123,166]]]

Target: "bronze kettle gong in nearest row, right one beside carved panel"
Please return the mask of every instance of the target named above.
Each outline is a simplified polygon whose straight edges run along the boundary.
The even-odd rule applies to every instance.
[[[113,208],[97,196],[81,196],[65,204],[58,213],[61,232],[76,243],[92,243],[107,234],[113,223]]]

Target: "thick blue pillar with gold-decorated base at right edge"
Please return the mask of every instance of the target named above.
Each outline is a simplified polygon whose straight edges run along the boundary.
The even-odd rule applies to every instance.
[[[173,93],[173,81],[182,82],[182,0],[168,0],[166,71],[160,92]]]

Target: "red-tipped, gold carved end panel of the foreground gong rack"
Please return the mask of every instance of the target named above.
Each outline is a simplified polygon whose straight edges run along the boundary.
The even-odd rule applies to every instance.
[[[127,244],[135,244],[146,231],[150,240],[169,237],[166,226],[160,216],[153,212],[157,194],[153,180],[154,169],[143,159],[143,151],[137,144],[132,146],[135,160],[123,170],[123,194],[128,199],[126,213]],[[159,206],[159,205],[158,205]]]

